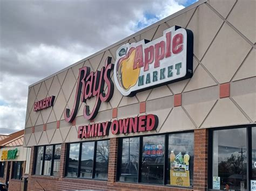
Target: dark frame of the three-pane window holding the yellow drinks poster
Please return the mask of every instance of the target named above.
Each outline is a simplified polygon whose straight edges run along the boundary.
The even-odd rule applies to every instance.
[[[118,151],[117,151],[117,182],[124,182],[124,183],[137,183],[141,185],[153,185],[153,186],[166,186],[166,187],[174,187],[174,188],[187,188],[191,189],[193,187],[184,187],[184,186],[175,186],[167,184],[167,174],[170,173],[168,169],[168,150],[169,150],[169,135],[177,135],[177,134],[185,134],[185,133],[193,133],[194,130],[188,131],[179,131],[179,132],[169,132],[169,133],[158,133],[158,134],[150,134],[150,135],[138,135],[138,136],[127,136],[127,137],[120,137],[118,138]],[[153,136],[165,136],[165,143],[164,143],[164,174],[163,174],[163,184],[156,184],[156,183],[143,183],[142,182],[142,155],[143,155],[143,137],[153,137]],[[129,181],[120,181],[120,174],[122,169],[122,148],[123,148],[123,139],[126,138],[136,138],[139,137],[139,162],[138,162],[138,180],[137,182],[129,182]],[[193,166],[194,171],[194,166]],[[193,178],[194,179],[194,178]]]

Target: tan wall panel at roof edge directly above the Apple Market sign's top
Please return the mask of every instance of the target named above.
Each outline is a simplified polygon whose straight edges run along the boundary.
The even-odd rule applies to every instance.
[[[194,10],[196,10],[196,8],[186,11],[185,13],[177,17],[174,17],[171,20],[168,20],[166,23],[170,27],[177,25],[185,28],[187,26],[188,20],[190,20],[190,18],[192,17]]]

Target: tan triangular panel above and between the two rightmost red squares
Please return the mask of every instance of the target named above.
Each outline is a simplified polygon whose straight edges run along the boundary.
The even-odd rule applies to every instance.
[[[190,82],[188,82],[186,88],[184,89],[184,92],[214,85],[217,85],[217,83],[205,71],[205,69],[199,65],[196,71],[194,72]]]

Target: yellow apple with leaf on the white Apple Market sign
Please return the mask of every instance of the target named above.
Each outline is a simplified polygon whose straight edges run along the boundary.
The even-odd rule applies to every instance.
[[[123,56],[117,62],[116,75],[117,80],[125,91],[133,87],[139,77],[140,68],[133,69],[134,58],[135,58],[136,48],[131,47],[127,52],[127,48],[120,49],[118,55]]]

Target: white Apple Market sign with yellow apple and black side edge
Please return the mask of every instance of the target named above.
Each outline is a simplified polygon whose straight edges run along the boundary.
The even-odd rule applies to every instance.
[[[179,26],[153,41],[120,46],[114,63],[114,82],[124,96],[192,77],[193,33]]]

